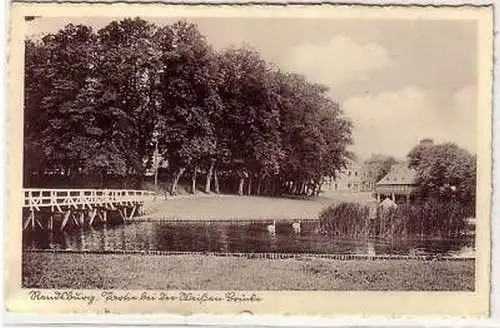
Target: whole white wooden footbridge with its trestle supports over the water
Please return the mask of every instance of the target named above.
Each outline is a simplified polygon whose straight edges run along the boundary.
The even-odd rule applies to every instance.
[[[157,194],[147,190],[121,189],[24,189],[23,229],[54,230],[69,223],[92,226],[97,220],[107,222],[108,213],[119,214],[124,222],[138,214]]]

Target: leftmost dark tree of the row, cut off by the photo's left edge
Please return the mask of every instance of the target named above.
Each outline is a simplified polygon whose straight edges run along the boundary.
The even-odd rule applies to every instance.
[[[96,36],[89,27],[67,25],[40,42],[26,43],[25,155],[68,174],[92,159],[94,131],[79,106],[94,70]]]

